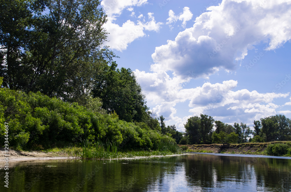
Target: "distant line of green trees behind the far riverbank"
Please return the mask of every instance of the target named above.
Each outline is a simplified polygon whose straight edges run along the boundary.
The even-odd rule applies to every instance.
[[[225,124],[211,116],[201,114],[190,117],[184,137],[179,144],[245,143],[291,140],[291,120],[285,115],[275,115],[254,121],[254,130],[244,123]],[[253,137],[252,137],[253,136]]]

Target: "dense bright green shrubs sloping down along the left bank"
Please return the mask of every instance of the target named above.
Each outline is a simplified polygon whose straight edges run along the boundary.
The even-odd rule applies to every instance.
[[[63,102],[41,93],[0,90],[0,142],[4,144],[4,122],[9,124],[9,146],[41,149],[81,145],[81,140],[113,141],[119,150],[175,151],[175,140],[151,130],[144,123],[130,123],[104,113],[100,100],[87,107]]]

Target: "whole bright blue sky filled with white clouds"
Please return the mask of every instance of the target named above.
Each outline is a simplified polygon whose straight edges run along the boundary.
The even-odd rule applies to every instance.
[[[118,67],[184,131],[191,116],[291,117],[291,0],[103,0]]]

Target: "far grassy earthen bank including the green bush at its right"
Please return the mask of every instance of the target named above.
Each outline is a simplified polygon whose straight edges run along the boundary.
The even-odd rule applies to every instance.
[[[226,145],[179,145],[179,147],[186,152],[291,156],[290,141]]]

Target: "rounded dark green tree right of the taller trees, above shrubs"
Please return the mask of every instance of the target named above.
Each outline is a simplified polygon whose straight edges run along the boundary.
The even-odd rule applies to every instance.
[[[104,64],[95,75],[93,97],[99,97],[102,108],[108,113],[115,111],[120,119],[127,122],[147,122],[149,117],[145,95],[131,69],[116,69]]]

